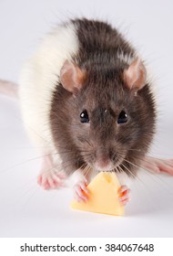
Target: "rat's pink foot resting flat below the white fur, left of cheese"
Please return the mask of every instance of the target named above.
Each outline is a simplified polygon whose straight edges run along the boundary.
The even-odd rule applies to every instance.
[[[66,176],[56,171],[41,173],[37,177],[37,183],[44,189],[56,189],[64,186]]]

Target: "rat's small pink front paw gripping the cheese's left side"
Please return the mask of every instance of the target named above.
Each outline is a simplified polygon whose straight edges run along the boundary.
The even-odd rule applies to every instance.
[[[87,189],[87,182],[86,180],[79,181],[75,186],[74,186],[74,197],[77,202],[86,202],[88,199],[88,194],[89,191]]]

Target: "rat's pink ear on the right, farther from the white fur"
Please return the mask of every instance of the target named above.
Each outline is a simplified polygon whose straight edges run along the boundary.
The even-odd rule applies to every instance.
[[[130,90],[140,90],[144,87],[147,79],[146,68],[141,59],[135,59],[128,69],[124,71],[124,80]]]

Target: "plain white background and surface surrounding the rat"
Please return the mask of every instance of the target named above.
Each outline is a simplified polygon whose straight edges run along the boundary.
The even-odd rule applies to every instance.
[[[168,0],[1,0],[0,78],[17,81],[23,60],[56,22],[68,16],[105,17],[127,33],[156,74],[159,122],[152,152],[173,157],[172,12]],[[69,189],[46,192],[36,185],[40,159],[29,160],[38,154],[25,135],[17,102],[4,96],[0,142],[1,237],[173,236],[173,177],[141,174],[124,218],[73,211]]]

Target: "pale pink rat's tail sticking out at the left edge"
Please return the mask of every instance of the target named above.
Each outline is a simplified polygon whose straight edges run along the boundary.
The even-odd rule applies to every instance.
[[[0,93],[4,93],[5,95],[18,98],[17,89],[18,86],[15,82],[0,80]]]

